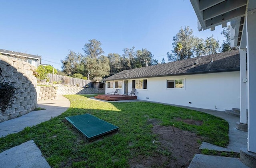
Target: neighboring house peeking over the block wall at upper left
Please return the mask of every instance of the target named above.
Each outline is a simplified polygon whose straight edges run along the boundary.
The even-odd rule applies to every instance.
[[[0,49],[0,54],[5,55],[7,57],[13,57],[21,61],[25,61],[27,63],[32,64],[33,66],[38,67],[41,63],[41,57],[38,55],[31,55],[26,53],[19,53],[15,51],[8,51],[5,49]]]

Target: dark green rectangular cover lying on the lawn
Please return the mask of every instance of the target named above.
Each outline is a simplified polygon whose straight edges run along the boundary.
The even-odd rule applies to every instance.
[[[85,135],[88,140],[116,131],[119,128],[90,114],[70,116],[65,117],[65,119]]]

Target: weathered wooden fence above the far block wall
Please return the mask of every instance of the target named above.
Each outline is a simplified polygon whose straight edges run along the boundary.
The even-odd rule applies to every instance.
[[[89,88],[93,87],[93,82],[92,80],[84,80],[84,79],[78,79],[78,78],[72,78],[70,76],[62,76],[62,75],[57,75],[54,74],[52,78],[52,74],[48,74],[47,76],[50,79],[50,83],[53,82],[56,84],[64,84],[64,85],[69,85],[69,86],[88,86]]]

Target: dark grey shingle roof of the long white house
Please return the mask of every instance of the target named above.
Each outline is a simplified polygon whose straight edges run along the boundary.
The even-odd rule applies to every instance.
[[[238,71],[239,66],[239,50],[235,50],[203,56],[200,58],[197,57],[171,63],[124,70],[104,79],[104,81],[158,76],[174,76],[183,74]]]

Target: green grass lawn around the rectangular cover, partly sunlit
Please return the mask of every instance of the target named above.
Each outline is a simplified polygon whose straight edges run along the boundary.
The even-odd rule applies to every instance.
[[[62,115],[34,127],[0,138],[0,152],[31,139],[40,148],[52,167],[129,167],[128,160],[138,155],[152,156],[162,152],[158,136],[152,133],[148,119],[156,119],[163,126],[178,127],[195,132],[204,141],[226,147],[228,123],[206,113],[149,102],[99,102],[88,99],[94,95],[68,95],[70,108]],[[91,143],[65,122],[64,117],[90,113],[119,127],[111,136],[104,136]],[[191,125],[182,119],[202,121]]]

